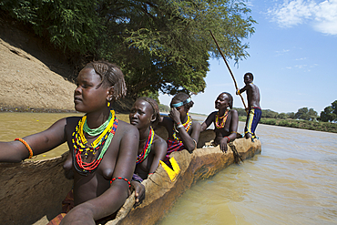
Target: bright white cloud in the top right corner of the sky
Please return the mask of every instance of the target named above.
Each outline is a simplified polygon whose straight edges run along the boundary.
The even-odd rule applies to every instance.
[[[337,35],[337,0],[316,3],[313,0],[284,0],[268,9],[271,21],[281,27],[311,24],[313,29],[327,35]]]

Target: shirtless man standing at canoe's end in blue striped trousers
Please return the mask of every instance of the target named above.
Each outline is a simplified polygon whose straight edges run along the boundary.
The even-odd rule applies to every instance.
[[[253,79],[254,77],[251,73],[246,73],[243,76],[246,86],[240,90],[238,89],[236,92],[237,95],[240,95],[247,91],[248,108],[246,108],[246,110],[248,110],[249,113],[246,120],[245,137],[251,139],[256,138],[255,129],[261,117],[260,90],[259,87],[252,83]]]

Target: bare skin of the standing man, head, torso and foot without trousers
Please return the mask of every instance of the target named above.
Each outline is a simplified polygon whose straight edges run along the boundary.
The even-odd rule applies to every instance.
[[[248,108],[246,108],[246,111],[249,112],[251,107],[260,107],[260,90],[259,87],[252,83],[253,76],[251,73],[246,73],[243,77],[243,81],[246,86],[240,89],[240,94],[247,91]],[[239,95],[239,92],[237,91],[236,94]],[[246,138],[251,137],[250,133],[246,134]]]

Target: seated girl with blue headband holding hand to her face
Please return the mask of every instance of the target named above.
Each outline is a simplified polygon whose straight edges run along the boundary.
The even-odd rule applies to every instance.
[[[165,127],[168,131],[168,156],[174,151],[187,149],[192,153],[197,148],[201,126],[199,122],[192,121],[189,116],[189,108],[194,102],[186,93],[178,93],[172,98],[168,117],[161,117],[158,125]]]

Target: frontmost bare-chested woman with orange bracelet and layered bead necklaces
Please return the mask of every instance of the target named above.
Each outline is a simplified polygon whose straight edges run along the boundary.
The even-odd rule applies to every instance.
[[[83,118],[62,118],[40,133],[0,142],[0,161],[20,162],[66,142],[64,169],[74,172],[75,208],[61,224],[95,224],[128,198],[138,150],[138,129],[119,121],[110,104],[126,95],[123,73],[107,62],[87,64],[77,77],[75,108]]]

